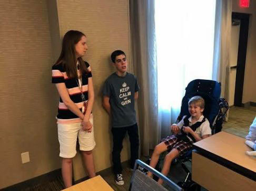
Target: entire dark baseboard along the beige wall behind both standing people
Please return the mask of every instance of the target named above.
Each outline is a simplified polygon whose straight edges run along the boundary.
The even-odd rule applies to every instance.
[[[128,167],[129,162],[130,162],[130,160],[122,162],[122,166],[123,167]],[[109,167],[109,168],[103,169],[102,171],[97,172],[96,175],[107,176],[112,172],[113,172],[112,167]],[[52,181],[53,179],[56,178],[56,176],[61,176],[61,168],[56,169],[55,171],[52,171],[52,172],[49,172],[49,173],[31,178],[31,179],[28,179],[27,181],[14,184],[12,186],[8,186],[6,188],[2,188],[0,190],[3,190],[3,191],[23,190],[23,189],[25,189],[29,186],[33,186],[33,185],[37,185],[37,184],[43,184],[43,183]],[[74,184],[81,183],[81,182],[85,181],[88,178],[89,177],[86,176],[84,178],[78,179],[77,181],[73,181],[73,183]]]

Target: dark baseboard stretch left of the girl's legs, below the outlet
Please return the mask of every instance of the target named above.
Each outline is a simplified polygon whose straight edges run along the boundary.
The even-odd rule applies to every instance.
[[[56,176],[60,176],[61,175],[61,168],[56,169],[55,171],[28,179],[27,181],[21,182],[21,183],[17,183],[14,184],[12,186],[8,186],[6,188],[2,188],[0,190],[4,190],[4,191],[16,191],[16,190],[22,190],[25,189],[29,186],[33,186],[33,185],[37,185],[37,184],[42,184],[45,182],[49,182],[52,181],[53,179],[56,178]]]

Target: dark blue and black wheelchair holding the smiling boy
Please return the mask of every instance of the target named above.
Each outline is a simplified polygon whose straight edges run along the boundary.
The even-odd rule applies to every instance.
[[[178,116],[178,119],[176,120],[176,123],[178,124],[183,119],[184,115],[190,115],[188,105],[189,99],[195,95],[200,95],[205,101],[205,109],[203,111],[203,115],[208,119],[210,123],[212,134],[220,132],[222,128],[221,124],[229,109],[228,102],[223,98],[220,98],[220,94],[221,83],[217,81],[202,79],[191,81],[185,88],[185,95],[182,99],[181,112]],[[163,157],[160,156],[159,163],[161,158]],[[191,172],[185,165],[186,162],[192,163],[192,150],[187,151],[185,154],[175,158],[175,160],[172,161],[172,165],[181,163],[181,166],[186,173],[184,181],[179,182],[178,185],[184,190],[200,190],[201,186],[192,181]],[[147,163],[149,164],[150,161],[147,161]],[[157,171],[161,172],[159,163],[157,163],[156,169]],[[157,177],[154,178],[157,180]]]

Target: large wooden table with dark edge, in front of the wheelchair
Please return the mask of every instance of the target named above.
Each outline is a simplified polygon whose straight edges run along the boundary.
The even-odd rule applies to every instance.
[[[192,180],[209,190],[256,190],[256,157],[245,139],[220,132],[193,144]]]

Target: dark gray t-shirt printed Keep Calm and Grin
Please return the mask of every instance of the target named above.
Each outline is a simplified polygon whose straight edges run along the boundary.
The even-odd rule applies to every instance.
[[[128,72],[124,77],[117,76],[114,72],[106,79],[103,95],[110,98],[113,128],[131,126],[136,123],[134,93],[139,89],[136,77]]]

